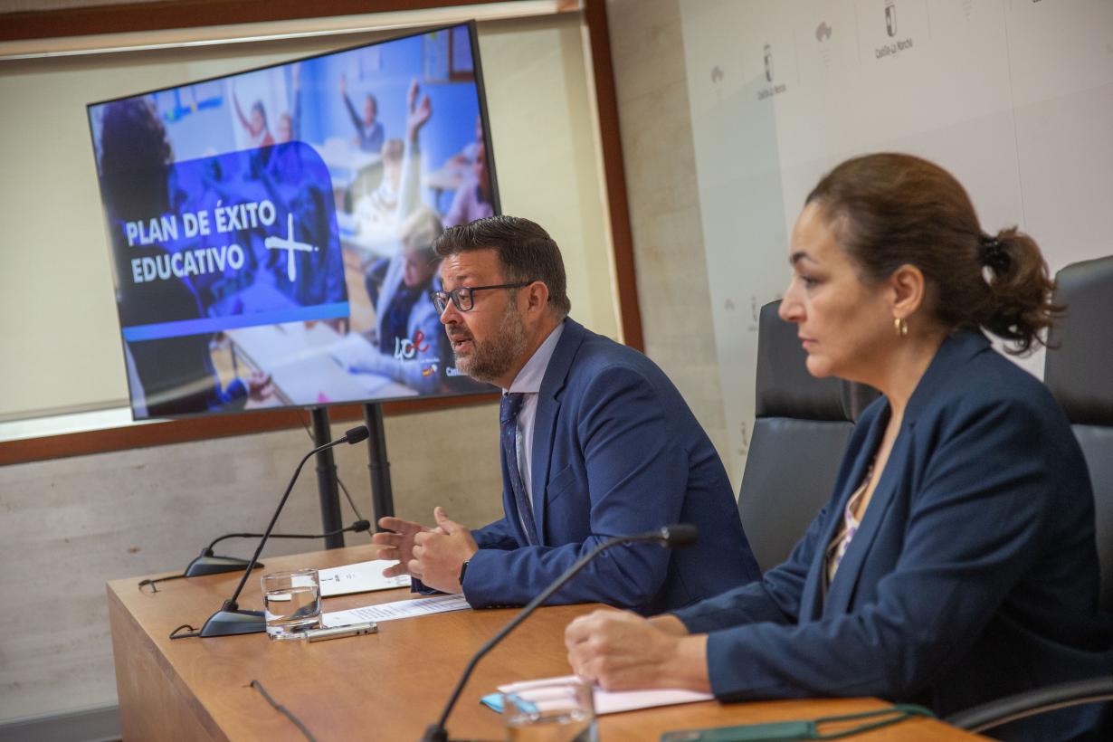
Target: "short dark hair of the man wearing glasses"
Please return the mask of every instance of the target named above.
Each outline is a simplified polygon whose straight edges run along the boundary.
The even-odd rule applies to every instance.
[[[521,217],[495,216],[445,229],[433,249],[441,258],[475,250],[494,250],[508,281],[540,280],[549,288],[549,304],[559,317],[568,316],[564,260],[560,248],[536,222]]]

